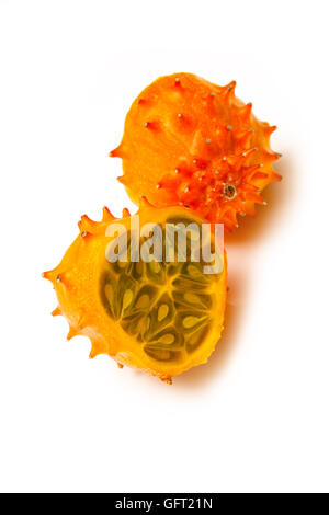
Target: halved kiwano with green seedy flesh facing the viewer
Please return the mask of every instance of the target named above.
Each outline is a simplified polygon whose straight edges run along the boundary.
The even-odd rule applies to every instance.
[[[191,209],[156,209],[146,202],[137,215],[140,227],[148,222],[145,227],[154,237],[154,225],[159,227],[157,238],[161,245],[167,242],[161,236],[166,224],[181,224],[178,227],[184,229],[192,222],[200,228],[204,221]],[[205,363],[220,337],[226,299],[225,255],[218,273],[205,274],[202,259],[192,259],[197,250],[193,231],[186,231],[190,238],[185,262],[179,259],[178,238],[171,261],[136,261],[137,254],[132,251],[136,244],[133,219],[136,216],[132,217],[127,209],[122,219],[115,219],[104,208],[100,222],[84,215],[79,222],[80,233],[60,264],[43,275],[53,283],[57,295],[58,307],[53,314],[63,314],[69,322],[68,340],[78,334],[89,336],[90,357],[105,353],[120,367],[136,367],[171,382],[173,376]],[[126,232],[116,232],[118,224]],[[150,247],[140,234],[138,231],[141,254],[143,244]],[[213,249],[213,233],[209,239]],[[125,260],[109,260],[109,250],[114,247],[116,255],[126,252]]]

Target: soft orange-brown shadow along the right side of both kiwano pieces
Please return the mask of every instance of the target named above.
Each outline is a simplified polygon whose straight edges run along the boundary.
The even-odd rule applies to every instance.
[[[268,202],[266,207],[259,207],[256,218],[241,219],[238,230],[226,236],[226,248],[228,256],[228,286],[227,306],[225,314],[225,329],[215,352],[205,365],[194,367],[191,370],[173,379],[174,388],[191,390],[191,388],[206,387],[215,376],[223,370],[227,364],[234,348],[238,345],[241,329],[243,328],[246,306],[248,305],[249,277],[252,275],[251,266],[231,267],[229,264],[230,247],[237,249],[241,255],[246,245],[260,240],[271,228],[275,228],[284,217],[288,201],[293,196],[294,175],[292,158],[286,152],[286,157],[281,158],[275,163],[275,171],[283,179],[280,183],[268,186],[264,191],[264,198]]]

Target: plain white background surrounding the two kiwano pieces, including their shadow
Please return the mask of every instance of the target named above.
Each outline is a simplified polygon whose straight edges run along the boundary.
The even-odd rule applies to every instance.
[[[329,491],[327,9],[0,0],[1,491]],[[283,181],[227,239],[215,354],[170,387],[67,342],[41,272],[83,213],[132,207],[106,156],[177,71],[237,80]]]

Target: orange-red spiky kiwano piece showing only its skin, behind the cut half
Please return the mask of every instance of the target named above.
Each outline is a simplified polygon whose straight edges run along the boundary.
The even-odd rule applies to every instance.
[[[236,82],[219,87],[191,73],[160,77],[133,103],[121,145],[118,180],[132,199],[156,207],[183,205],[226,229],[237,214],[256,215],[261,191],[280,181],[270,147],[275,126],[260,122],[251,103],[235,95]]]

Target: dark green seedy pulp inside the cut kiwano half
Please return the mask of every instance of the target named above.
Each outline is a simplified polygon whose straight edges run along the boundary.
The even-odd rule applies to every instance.
[[[162,241],[166,224],[179,222],[186,226],[195,220],[193,216],[168,217],[162,225]],[[191,227],[188,231],[188,262],[178,260],[174,245],[172,262],[106,261],[100,278],[100,296],[109,317],[117,320],[152,359],[182,359],[185,353],[202,345],[212,327],[208,312],[218,276],[204,275],[204,263],[192,261],[192,247],[200,239],[200,229]],[[125,250],[129,245],[131,234]],[[200,250],[200,244],[195,247],[195,251]]]

